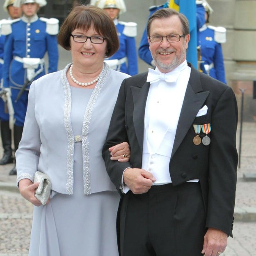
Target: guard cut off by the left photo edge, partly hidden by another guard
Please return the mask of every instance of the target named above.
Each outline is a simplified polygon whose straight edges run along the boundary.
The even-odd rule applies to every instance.
[[[13,3],[14,0],[5,0],[3,5],[4,10],[9,14],[9,20],[21,17],[21,8],[14,7]],[[0,81],[2,80],[2,65],[4,64],[3,55],[5,45],[5,36],[1,35],[1,25],[6,21],[6,19],[0,21]],[[6,165],[13,162],[13,156],[11,148],[11,129],[9,128],[9,114],[2,98],[0,98],[0,132],[2,147],[4,149],[4,154],[0,159],[0,165]]]

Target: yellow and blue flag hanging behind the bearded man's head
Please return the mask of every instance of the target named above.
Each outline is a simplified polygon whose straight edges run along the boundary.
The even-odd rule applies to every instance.
[[[189,22],[190,41],[187,48],[187,62],[197,69],[197,7],[195,0],[170,0],[169,8],[184,14]]]

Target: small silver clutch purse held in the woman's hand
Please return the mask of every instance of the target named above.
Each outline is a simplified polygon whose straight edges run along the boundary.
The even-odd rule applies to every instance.
[[[41,171],[36,171],[34,183],[39,182],[38,188],[35,190],[35,197],[45,205],[50,197],[51,182],[47,174]]]

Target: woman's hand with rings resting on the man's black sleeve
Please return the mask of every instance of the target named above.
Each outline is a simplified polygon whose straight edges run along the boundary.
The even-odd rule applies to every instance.
[[[130,160],[130,148],[127,142],[112,146],[108,150],[110,151],[111,160],[118,160],[119,162],[128,162]]]

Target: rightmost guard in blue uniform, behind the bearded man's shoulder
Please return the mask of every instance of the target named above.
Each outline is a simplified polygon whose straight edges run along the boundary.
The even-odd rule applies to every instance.
[[[203,2],[203,6],[205,7],[205,24],[199,29],[201,70],[226,84],[221,46],[221,43],[226,42],[226,28],[208,25],[213,9],[207,2]]]

